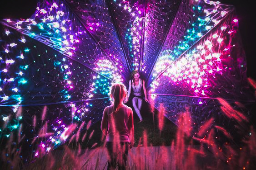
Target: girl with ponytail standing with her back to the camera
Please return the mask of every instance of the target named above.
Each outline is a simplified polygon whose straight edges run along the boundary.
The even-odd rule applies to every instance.
[[[126,97],[124,85],[114,84],[110,87],[112,105],[103,111],[101,131],[106,136],[108,152],[108,170],[125,170],[129,146],[134,144],[134,126],[132,109],[123,104]]]

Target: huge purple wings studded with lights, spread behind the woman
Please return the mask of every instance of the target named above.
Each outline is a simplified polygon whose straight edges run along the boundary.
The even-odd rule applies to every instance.
[[[111,83],[127,85],[134,69],[174,123],[190,106],[193,129],[225,122],[218,97],[253,100],[238,19],[219,2],[41,0],[30,19],[0,29],[0,137],[18,131],[45,152],[99,121]]]

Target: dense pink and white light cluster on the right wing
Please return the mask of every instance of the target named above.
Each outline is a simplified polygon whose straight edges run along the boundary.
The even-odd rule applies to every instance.
[[[167,78],[171,80],[172,84],[182,84],[182,82],[185,81],[186,84],[193,89],[195,95],[205,96],[207,89],[211,87],[211,83],[208,82],[209,77],[215,74],[222,74],[222,72],[225,71],[222,68],[221,53],[213,49],[216,49],[215,46],[219,43],[221,47],[231,47],[229,44],[222,44],[222,37],[225,36],[225,33],[230,31],[227,29],[226,26],[221,26],[219,28],[219,32],[221,33],[219,36],[213,34],[213,36],[206,39],[205,42],[197,45],[194,50],[191,50],[191,53],[186,54],[186,56],[181,57],[180,60],[172,64],[161,76],[161,79]],[[218,49],[221,47],[218,47]],[[225,48],[225,51],[229,52],[231,48]],[[193,58],[191,58],[191,56],[193,56]],[[166,78],[164,78],[164,76],[166,76]],[[161,79],[159,78],[152,83],[152,92],[158,88],[159,83],[157,82]]]

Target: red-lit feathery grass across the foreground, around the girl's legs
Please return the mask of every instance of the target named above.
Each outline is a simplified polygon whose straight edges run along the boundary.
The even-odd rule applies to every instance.
[[[236,121],[238,130],[243,129],[242,125],[248,123],[244,114],[234,110],[223,99],[219,99],[219,102],[226,118]],[[242,134],[243,142],[239,146],[229,142],[220,145],[221,140],[216,138],[217,132],[230,140],[232,137],[227,129],[213,126],[213,119],[209,118],[199,129],[198,135],[192,137],[192,122],[188,111],[181,113],[179,126],[176,127],[164,117],[164,110],[159,110],[159,113],[154,114],[142,112],[145,119],[142,123],[137,123],[139,120],[135,116],[136,147],[129,152],[128,170],[256,169],[255,128],[251,127],[249,134]],[[78,135],[78,138],[71,137],[72,140],[48,153],[39,150],[37,159],[34,159],[34,153],[31,153],[29,163],[24,164],[20,158],[20,146],[24,138],[11,133],[6,145],[3,146],[1,141],[1,169],[98,170],[106,167],[106,162],[102,162],[105,156],[105,141],[101,136],[100,122],[87,128],[87,131],[78,130],[70,133],[71,135]],[[39,146],[40,141],[35,144]]]

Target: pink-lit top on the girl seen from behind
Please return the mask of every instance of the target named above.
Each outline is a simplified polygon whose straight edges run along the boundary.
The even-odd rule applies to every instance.
[[[131,113],[128,112],[128,106],[124,105],[114,114],[112,113],[113,105],[111,106],[108,106],[107,113],[108,132],[106,142],[114,142],[114,140],[119,140],[119,142],[130,142],[128,120]],[[119,139],[115,139],[115,137],[118,137],[117,133],[119,134]]]

